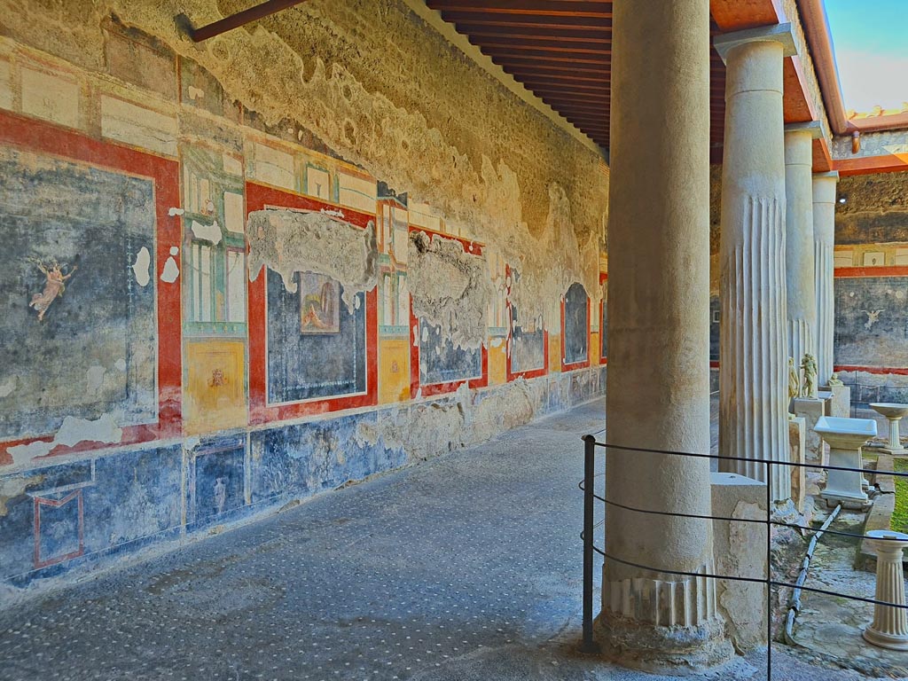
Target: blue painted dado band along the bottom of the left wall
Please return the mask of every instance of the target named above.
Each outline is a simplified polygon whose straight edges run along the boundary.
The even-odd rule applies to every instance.
[[[535,414],[601,394],[605,371],[527,381],[538,395]],[[467,409],[512,385],[471,393]],[[230,527],[293,499],[462,447],[471,441],[469,419],[443,437],[410,443],[410,451],[401,443],[433,410],[462,415],[459,399],[448,395],[166,446],[108,449],[59,463],[45,459],[39,468],[0,475],[0,600],[47,577],[103,568],[154,544],[175,547],[215,526]]]

